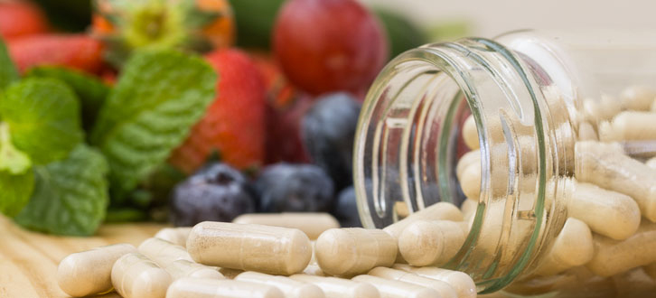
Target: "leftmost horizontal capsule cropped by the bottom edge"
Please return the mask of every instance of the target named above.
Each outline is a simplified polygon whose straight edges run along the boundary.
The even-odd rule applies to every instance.
[[[227,279],[181,278],[166,291],[166,298],[284,298],[276,287]]]

